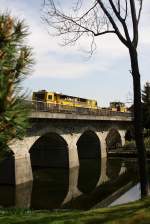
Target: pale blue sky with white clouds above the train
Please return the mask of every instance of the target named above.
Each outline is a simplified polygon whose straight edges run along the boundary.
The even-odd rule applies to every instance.
[[[48,90],[96,99],[101,107],[111,101],[127,103],[132,99],[133,82],[127,49],[115,36],[96,38],[97,49],[89,57],[89,40],[76,46],[60,45],[41,19],[44,0],[0,0],[1,11],[24,19],[29,26],[27,44],[33,48],[33,71],[22,83],[30,96],[33,91]],[[61,1],[63,3],[64,0]],[[65,4],[67,1],[65,0]],[[150,1],[144,0],[140,21],[139,67],[141,86],[150,81]]]

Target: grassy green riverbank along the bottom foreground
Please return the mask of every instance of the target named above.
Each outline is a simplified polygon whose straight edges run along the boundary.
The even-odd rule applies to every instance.
[[[149,224],[150,198],[89,211],[0,210],[0,224]]]

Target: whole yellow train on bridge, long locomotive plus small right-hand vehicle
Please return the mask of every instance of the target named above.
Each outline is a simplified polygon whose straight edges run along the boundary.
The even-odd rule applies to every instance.
[[[32,100],[33,102],[38,102],[38,105],[44,104],[51,108],[59,107],[68,110],[75,108],[77,111],[80,111],[81,109],[87,109],[95,112],[97,110],[127,112],[127,107],[122,102],[110,102],[109,108],[101,108],[98,106],[95,99],[80,98],[62,93],[49,92],[46,90],[33,92]]]

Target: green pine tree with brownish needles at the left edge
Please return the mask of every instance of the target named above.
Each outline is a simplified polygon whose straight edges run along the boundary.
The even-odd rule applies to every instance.
[[[28,27],[9,13],[0,15],[0,150],[13,138],[21,139],[27,127],[28,109],[23,103],[21,81],[33,64],[31,48],[24,41]]]

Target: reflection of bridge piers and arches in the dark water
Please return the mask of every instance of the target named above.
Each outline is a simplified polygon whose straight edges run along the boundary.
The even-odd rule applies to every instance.
[[[0,205],[33,209],[108,206],[136,185],[136,161],[80,158],[80,167],[33,167],[33,183],[0,186]]]

